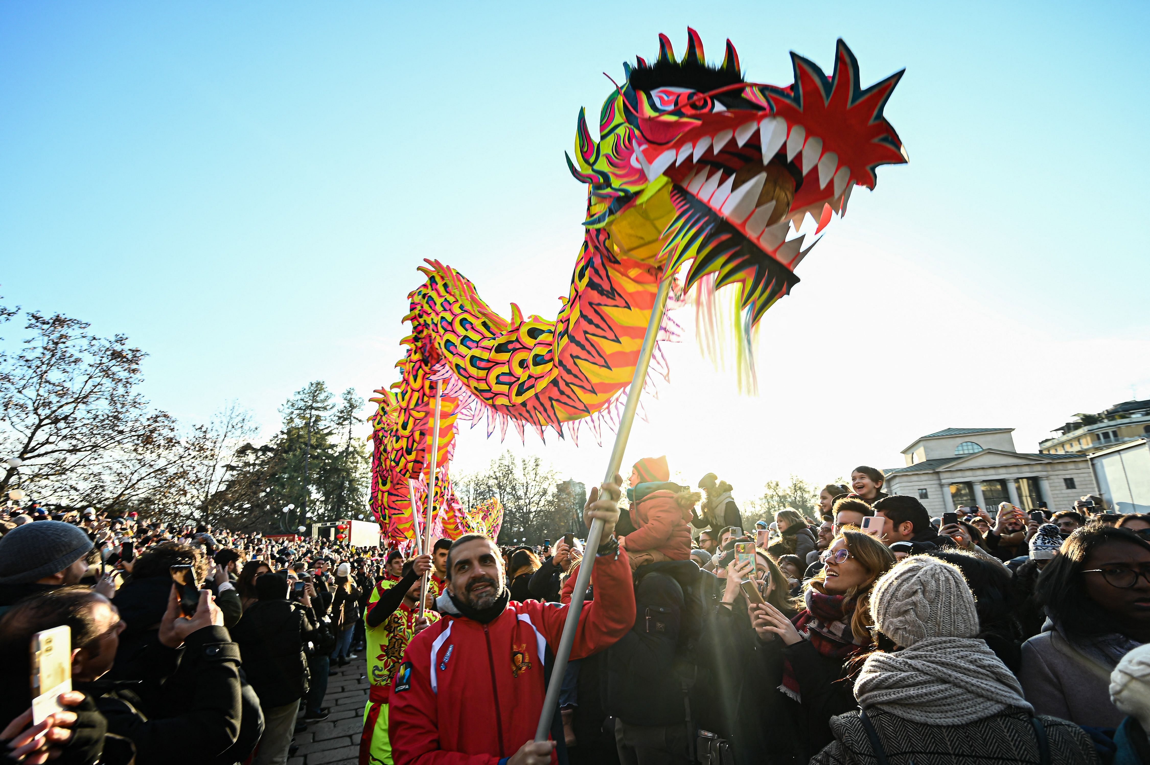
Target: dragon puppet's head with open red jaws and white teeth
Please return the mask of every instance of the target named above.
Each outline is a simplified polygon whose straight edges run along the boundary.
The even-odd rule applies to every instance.
[[[854,184],[874,189],[875,168],[907,160],[882,116],[903,72],[864,89],[838,40],[830,77],[791,53],[792,85],[747,83],[730,40],[722,64],[708,66],[687,31],[681,61],[660,35],[654,63],[623,64],[598,141],[580,110],[567,163],[589,185],[584,225],[603,229],[608,248],[665,273],[690,260],[687,289],[710,274],[715,289],[739,285],[749,329],[798,282],[811,247],[790,235],[804,217],[821,231]]]

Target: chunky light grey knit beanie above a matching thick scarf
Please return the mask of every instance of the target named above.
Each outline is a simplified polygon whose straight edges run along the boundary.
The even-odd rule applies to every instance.
[[[903,648],[928,637],[974,637],[979,614],[963,572],[931,556],[910,556],[875,582],[874,626]]]

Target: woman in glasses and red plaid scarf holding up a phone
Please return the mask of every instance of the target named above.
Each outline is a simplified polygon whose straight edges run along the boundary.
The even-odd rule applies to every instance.
[[[895,556],[861,531],[838,534],[825,566],[807,581],[803,611],[793,619],[769,603],[752,605],[754,630],[764,642],[761,660],[782,674],[782,690],[798,703],[806,757],[830,743],[828,721],[857,707],[850,659],[875,648],[871,592],[895,566]]]

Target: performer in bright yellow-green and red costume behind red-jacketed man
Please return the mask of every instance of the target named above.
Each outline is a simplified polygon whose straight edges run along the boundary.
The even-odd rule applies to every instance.
[[[399,581],[383,579],[371,591],[363,614],[367,628],[368,681],[371,693],[363,710],[359,765],[393,765],[388,737],[388,701],[392,679],[404,660],[407,642],[439,614],[427,611],[420,617],[420,577],[431,569],[431,556],[420,556],[404,564]]]

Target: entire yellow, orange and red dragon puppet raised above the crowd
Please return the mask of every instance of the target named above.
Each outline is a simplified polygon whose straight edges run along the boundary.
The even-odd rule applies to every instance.
[[[434,533],[454,537],[491,514],[461,508],[453,496],[458,421],[474,427],[485,416],[489,436],[498,428],[503,437],[511,423],[520,436],[531,427],[577,438],[585,420],[598,437],[626,399],[665,275],[673,294],[691,293],[702,319],[713,315],[715,291],[734,291],[741,366],[753,370],[750,337],[798,283],[807,239],[845,214],[856,184],[874,189],[880,165],[907,161],[883,117],[902,71],[862,87],[842,40],[829,77],[808,59],[791,61],[791,85],[750,83],[730,40],[713,66],[695,30],[681,59],[660,35],[658,58],[623,64],[598,140],[580,110],[567,165],[588,188],[585,236],[554,320],[523,316],[514,304],[505,319],[450,266],[420,268],[400,380],[371,399],[371,507],[393,540],[414,538],[420,522],[436,385]],[[672,327],[665,321],[662,338]]]

